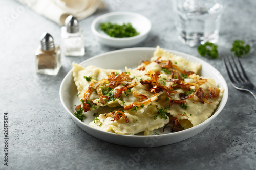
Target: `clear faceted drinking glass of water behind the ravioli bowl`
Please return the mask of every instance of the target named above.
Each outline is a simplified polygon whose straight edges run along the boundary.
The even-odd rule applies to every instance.
[[[175,0],[175,26],[183,44],[190,47],[219,38],[225,0]]]

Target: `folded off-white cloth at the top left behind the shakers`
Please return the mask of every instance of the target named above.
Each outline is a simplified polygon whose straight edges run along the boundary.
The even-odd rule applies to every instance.
[[[78,20],[93,14],[97,8],[105,8],[101,0],[17,0],[35,12],[62,26],[69,15]]]

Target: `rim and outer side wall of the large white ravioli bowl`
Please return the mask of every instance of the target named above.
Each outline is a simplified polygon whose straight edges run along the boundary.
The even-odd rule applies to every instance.
[[[138,51],[144,50],[144,51],[152,51],[152,52],[154,52],[156,50],[156,48],[151,48],[151,47],[139,47],[138,48],[138,47],[136,47],[136,48],[125,48],[125,49],[115,50],[115,51],[106,52],[106,53],[102,53],[102,54],[96,55],[94,57],[91,57],[91,58],[81,62],[80,64],[83,65],[84,63],[90,62],[91,60],[95,60],[95,59],[100,58],[102,56],[106,56],[106,55],[110,55],[110,54],[114,54],[114,53],[118,53],[118,52],[125,53],[127,51],[137,51],[137,50]],[[225,79],[223,78],[223,76],[220,74],[220,72],[216,68],[214,68],[213,66],[208,64],[207,62],[205,62],[205,61],[203,61],[203,60],[201,60],[201,59],[199,59],[199,58],[197,58],[195,56],[186,54],[186,53],[178,52],[178,51],[175,51],[175,50],[168,50],[168,49],[164,49],[164,50],[168,51],[168,52],[171,52],[171,53],[174,53],[174,54],[177,54],[177,55],[180,55],[180,56],[183,56],[185,58],[188,57],[189,59],[192,59],[190,61],[194,61],[194,60],[200,61],[200,63],[202,63],[203,65],[207,65],[207,66],[211,67],[211,69],[216,71],[217,75],[220,76],[220,79],[223,81],[222,82],[223,83],[222,86],[225,89],[225,91],[224,91],[223,98],[222,98],[222,101],[221,101],[222,105],[218,106],[217,111],[210,118],[205,120],[203,123],[201,123],[201,124],[199,124],[199,125],[197,125],[195,127],[192,127],[192,128],[189,128],[189,129],[186,129],[186,130],[183,130],[183,131],[180,131],[180,132],[169,133],[169,134],[160,134],[160,135],[152,135],[152,136],[119,135],[119,134],[115,134],[115,133],[111,133],[111,132],[104,132],[104,131],[100,131],[100,130],[97,130],[95,128],[92,128],[92,127],[88,126],[87,124],[84,124],[83,122],[81,122],[79,119],[77,119],[73,115],[73,113],[69,110],[69,108],[65,105],[65,101],[63,100],[63,93],[62,92],[63,92],[63,88],[65,86],[65,81],[68,78],[70,78],[70,76],[72,77],[72,70],[70,70],[68,72],[68,74],[65,76],[65,78],[63,78],[63,80],[61,82],[61,85],[60,85],[59,96],[60,96],[60,101],[61,101],[63,107],[66,109],[66,111],[72,117],[72,119],[75,120],[77,125],[79,127],[81,127],[84,131],[86,131],[87,133],[91,134],[92,136],[94,136],[96,138],[99,138],[101,140],[104,140],[104,141],[107,141],[107,142],[111,142],[111,143],[114,143],[114,144],[126,145],[126,146],[129,146],[129,147],[158,147],[158,146],[162,146],[162,145],[167,145],[167,144],[172,144],[172,143],[180,142],[180,141],[183,141],[185,139],[188,139],[190,137],[195,136],[196,134],[198,134],[201,131],[203,131],[212,122],[212,120],[214,120],[220,114],[220,112],[224,108],[224,106],[225,106],[225,104],[227,102],[227,99],[228,99],[227,83],[226,83]],[[84,129],[85,127],[86,127],[86,129]],[[197,129],[197,132],[193,132],[195,129]],[[99,134],[94,134],[91,131],[98,131]],[[156,141],[156,138],[157,139],[162,138],[164,140],[164,139],[168,139],[168,138],[170,138],[172,136],[175,136],[175,135],[182,136],[183,134],[189,134],[189,133],[192,134],[192,135],[190,135],[188,137],[185,137],[185,138],[182,138],[182,140],[177,140],[177,141],[173,141],[173,142],[168,142],[168,141],[167,142],[166,141],[161,142],[161,140],[159,140],[158,142],[154,142],[150,146],[148,146],[148,143],[145,143],[146,139],[152,140],[152,141]],[[108,135],[110,139],[102,139],[102,137],[101,137],[102,134],[103,135]],[[111,139],[112,137],[119,138],[119,139],[121,139],[120,141],[125,141],[125,140],[136,141],[136,140],[138,140],[138,141],[140,141],[140,143],[131,143],[131,142],[120,143],[120,142],[115,142],[115,141],[113,141]],[[143,141],[144,141],[144,143],[141,143]]]

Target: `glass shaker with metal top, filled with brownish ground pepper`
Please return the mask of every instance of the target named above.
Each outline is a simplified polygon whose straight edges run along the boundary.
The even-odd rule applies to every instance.
[[[60,47],[55,45],[49,33],[42,33],[41,44],[38,46],[36,56],[36,71],[39,74],[57,75],[61,68]]]

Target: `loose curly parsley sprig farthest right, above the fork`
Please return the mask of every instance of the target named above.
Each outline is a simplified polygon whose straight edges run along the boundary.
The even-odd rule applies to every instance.
[[[234,40],[231,52],[237,57],[243,57],[250,52],[250,45],[245,44],[243,40]]]

